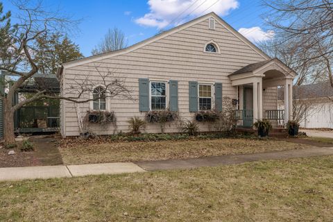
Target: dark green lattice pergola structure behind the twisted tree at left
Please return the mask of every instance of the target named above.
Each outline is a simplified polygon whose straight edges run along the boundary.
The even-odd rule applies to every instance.
[[[0,70],[0,92],[5,95],[8,92],[10,80],[17,78],[16,74]],[[36,90],[45,90],[46,94],[59,94],[60,85],[56,75],[34,74],[32,78],[17,89],[12,103],[17,104]],[[0,138],[3,137],[3,103],[0,99]],[[58,101],[37,100],[24,105],[14,114],[15,133],[44,133],[59,131],[59,103]]]

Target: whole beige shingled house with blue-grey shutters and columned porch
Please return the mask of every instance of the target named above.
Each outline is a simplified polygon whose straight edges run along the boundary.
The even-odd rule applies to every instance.
[[[94,129],[99,134],[112,134],[128,131],[128,118],[144,118],[149,110],[170,107],[187,119],[194,119],[198,111],[222,110],[224,96],[239,101],[236,109],[240,126],[251,127],[257,119],[268,116],[273,122],[292,118],[291,86],[295,72],[280,60],[268,57],[214,12],[126,49],[62,64],[58,69],[62,96],[68,96],[71,86],[85,76],[99,89],[101,78],[94,69],[96,66],[115,70],[126,78],[137,100],[113,98],[83,103],[79,108],[73,102],[62,101],[63,137],[79,135],[78,115],[84,117],[87,110],[94,108],[114,111],[117,127]],[[280,85],[287,85],[284,115],[277,110]],[[200,131],[207,130],[207,124],[200,125]],[[146,132],[160,133],[161,129],[157,124],[148,124]],[[179,132],[179,129],[171,123],[165,132]]]

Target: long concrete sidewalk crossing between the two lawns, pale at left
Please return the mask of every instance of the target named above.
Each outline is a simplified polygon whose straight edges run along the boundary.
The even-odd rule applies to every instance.
[[[314,157],[321,155],[333,155],[333,148],[314,147],[291,151],[277,151],[271,153],[255,153],[245,155],[223,155],[187,160],[160,160],[135,163],[114,162],[106,164],[83,164],[68,166],[60,165],[45,167],[6,167],[0,168],[0,181],[40,178],[71,178],[74,176],[138,173],[166,169],[191,169],[196,167],[214,167],[226,164],[240,164],[244,162],[262,160],[286,160],[290,158]]]

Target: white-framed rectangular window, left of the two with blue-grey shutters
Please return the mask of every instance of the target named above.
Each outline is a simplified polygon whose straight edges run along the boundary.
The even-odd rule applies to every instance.
[[[165,110],[167,107],[166,83],[151,82],[151,110]]]

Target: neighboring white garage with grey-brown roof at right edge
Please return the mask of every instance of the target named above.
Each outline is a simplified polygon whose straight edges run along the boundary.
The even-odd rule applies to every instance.
[[[278,108],[284,109],[284,90],[278,89]],[[315,83],[293,87],[295,117],[303,128],[333,128],[333,87]]]

